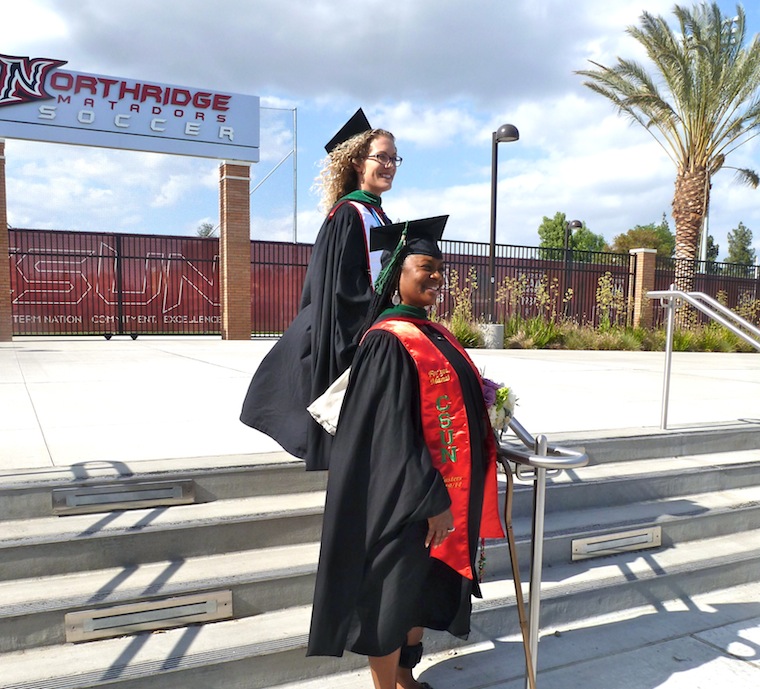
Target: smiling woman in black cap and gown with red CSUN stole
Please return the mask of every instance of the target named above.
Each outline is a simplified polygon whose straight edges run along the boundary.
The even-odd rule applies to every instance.
[[[482,381],[427,319],[443,282],[435,240],[445,220],[409,223],[401,242],[401,226],[375,231],[390,233],[396,253],[330,458],[308,653],[369,656],[377,689],[424,686],[412,677],[424,627],[467,636],[478,539],[503,537]]]

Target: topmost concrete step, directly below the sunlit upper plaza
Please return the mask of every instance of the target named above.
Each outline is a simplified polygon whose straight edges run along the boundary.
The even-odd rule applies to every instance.
[[[708,429],[650,431],[621,429],[594,434],[565,433],[555,445],[583,447],[591,466],[652,458],[698,457],[760,450],[760,426],[722,424]],[[507,434],[505,442],[519,445]],[[690,467],[688,460],[684,465]],[[633,463],[633,462],[631,462]],[[306,472],[303,462],[285,452],[224,455],[176,460],[83,463],[62,468],[0,472],[0,521],[34,519],[52,514],[52,491],[113,483],[190,479],[197,502],[278,493],[324,490],[326,472]],[[585,477],[590,467],[584,467]],[[572,475],[572,474],[571,474]],[[590,476],[590,474],[588,474]],[[693,492],[693,491],[692,491]],[[519,491],[518,491],[519,493]],[[518,499],[519,495],[518,495]]]

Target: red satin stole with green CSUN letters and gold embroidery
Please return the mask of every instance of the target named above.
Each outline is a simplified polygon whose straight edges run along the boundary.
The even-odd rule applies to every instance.
[[[445,562],[467,579],[473,578],[470,561],[468,517],[470,503],[470,433],[467,410],[462,399],[462,385],[456,372],[440,350],[423,333],[418,324],[432,326],[445,337],[470,364],[480,380],[480,373],[458,340],[446,328],[430,321],[417,319],[388,319],[372,326],[395,335],[404,345],[417,366],[420,381],[422,428],[433,466],[443,476],[451,498],[454,532],[430,554]],[[483,408],[485,414],[485,407]],[[488,417],[486,415],[486,423]],[[484,538],[503,538],[496,485],[496,445],[493,433],[486,434],[489,461],[485,477],[485,494],[480,521]]]

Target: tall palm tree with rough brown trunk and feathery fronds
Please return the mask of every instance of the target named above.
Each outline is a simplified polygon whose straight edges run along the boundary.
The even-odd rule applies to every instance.
[[[577,74],[644,127],[675,163],[676,286],[690,291],[712,176],[728,167],[727,156],[760,128],[760,37],[745,46],[740,5],[731,18],[715,2],[676,5],[673,13],[677,33],[663,17],[647,12],[640,26],[626,30],[646,49],[652,75],[623,58],[614,67],[592,61],[596,69]],[[753,170],[732,169],[742,182],[760,183]]]

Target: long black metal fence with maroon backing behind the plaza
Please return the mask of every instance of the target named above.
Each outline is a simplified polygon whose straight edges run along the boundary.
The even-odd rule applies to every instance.
[[[14,335],[221,332],[219,240],[200,237],[12,229]],[[572,319],[624,325],[634,293],[628,254],[443,240],[446,282],[438,313],[466,300],[477,319]],[[295,317],[310,244],[251,242],[253,336],[282,333]],[[695,291],[757,322],[758,266],[698,264]],[[655,289],[667,289],[673,259],[658,259]],[[655,318],[662,316],[655,309]]]

